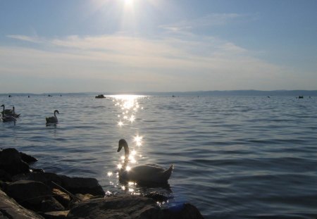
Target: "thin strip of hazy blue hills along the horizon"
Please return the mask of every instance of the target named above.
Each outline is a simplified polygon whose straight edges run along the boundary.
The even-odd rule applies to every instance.
[[[317,90],[228,90],[197,92],[77,92],[77,93],[5,93],[0,96],[94,96],[97,94],[139,94],[150,96],[317,96]]]

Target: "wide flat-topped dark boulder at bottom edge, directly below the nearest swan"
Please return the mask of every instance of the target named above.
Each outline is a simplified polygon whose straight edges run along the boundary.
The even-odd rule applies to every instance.
[[[143,196],[118,195],[105,199],[91,199],[75,205],[68,219],[121,219],[149,218],[147,215],[162,215],[155,201]]]

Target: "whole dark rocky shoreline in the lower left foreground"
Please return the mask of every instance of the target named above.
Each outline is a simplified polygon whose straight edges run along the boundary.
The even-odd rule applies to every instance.
[[[192,204],[160,208],[154,196],[105,196],[94,178],[44,173],[37,159],[16,149],[0,150],[0,218],[203,218]]]

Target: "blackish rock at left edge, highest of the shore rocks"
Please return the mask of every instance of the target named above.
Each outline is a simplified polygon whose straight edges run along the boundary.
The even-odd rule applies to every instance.
[[[16,149],[4,149],[0,152],[0,169],[13,176],[28,173],[30,167],[22,161],[20,153]]]

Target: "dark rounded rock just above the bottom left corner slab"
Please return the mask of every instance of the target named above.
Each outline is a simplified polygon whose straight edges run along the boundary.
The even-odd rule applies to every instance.
[[[42,182],[20,180],[8,184],[6,194],[21,206],[32,211],[63,211],[63,206],[54,199],[51,189]]]

